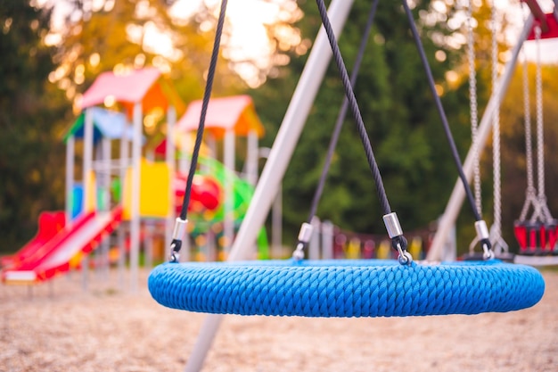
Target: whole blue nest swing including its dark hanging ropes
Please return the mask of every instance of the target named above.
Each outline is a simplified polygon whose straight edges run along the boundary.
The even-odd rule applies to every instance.
[[[414,262],[406,252],[406,239],[396,213],[391,211],[382,176],[373,156],[372,145],[327,17],[324,1],[317,0],[316,3],[332,46],[334,60],[341,72],[347,102],[357,121],[366,159],[380,198],[384,224],[392,247],[398,251],[398,260],[301,260],[304,257],[303,249],[311,236],[311,218],[308,218],[300,230],[299,244],[293,252],[292,260],[177,262],[186,232],[186,207],[201,147],[204,112],[207,112],[209,105],[218,46],[225,20],[226,0],[223,0],[203,97],[200,126],[190,163],[189,181],[182,211],[176,219],[173,232],[171,261],[153,269],[148,280],[152,297],[160,304],[178,310],[324,318],[478,314],[521,310],[536,304],[545,292],[545,282],[536,269],[500,260],[489,260],[493,257],[493,252],[488,239],[488,228],[476,209],[418,30],[414,25],[413,14],[404,1],[407,18],[424,68],[428,72],[429,85],[452,149],[455,165],[472,207],[476,220],[475,229],[484,250],[483,258],[486,260],[425,265]],[[370,17],[373,15],[375,4],[377,2],[373,4]],[[340,117],[341,120],[338,121],[342,123],[344,113]],[[331,156],[332,149],[334,150],[334,138],[335,136],[332,136],[328,156]],[[327,163],[328,161],[326,166],[329,166]],[[266,167],[273,167],[270,164],[273,162],[269,161]],[[316,211],[316,201],[321,194],[325,173],[322,173],[320,185],[317,187],[317,196],[315,195],[310,217]],[[258,187],[260,186],[261,183],[258,184]],[[257,203],[251,204],[250,208],[255,205]]]

